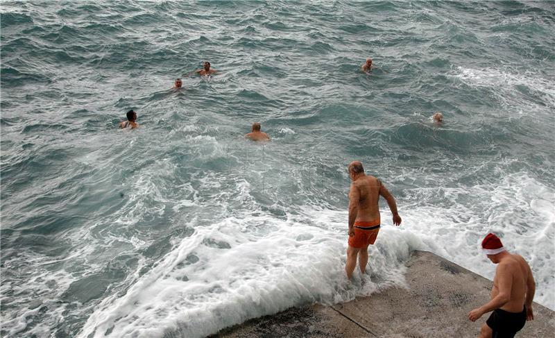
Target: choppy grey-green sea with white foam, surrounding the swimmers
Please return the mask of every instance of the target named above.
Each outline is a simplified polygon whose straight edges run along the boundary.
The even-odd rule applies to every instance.
[[[414,249],[491,279],[488,232],[555,310],[554,46],[552,1],[2,1],[0,335],[203,337]],[[352,160],[403,222],[350,283]]]

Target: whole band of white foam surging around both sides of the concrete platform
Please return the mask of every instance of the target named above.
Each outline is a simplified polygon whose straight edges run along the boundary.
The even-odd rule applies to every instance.
[[[214,178],[203,182],[205,189],[218,189]],[[234,196],[222,198],[252,204],[250,189],[241,181]],[[253,210],[210,226],[189,224],[194,234],[175,242],[143,276],[135,274],[125,295],[104,298],[79,337],[161,337],[165,332],[203,337],[303,303],[350,301],[391,285],[402,287],[404,262],[415,249],[491,279],[495,265],[479,250],[488,232],[531,264],[536,301],[555,303],[549,291],[555,286],[553,189],[520,173],[470,190],[416,188],[406,194],[400,204],[402,227],[391,226],[391,214],[382,212],[384,227],[370,247],[371,280],[359,274],[355,283],[345,279],[347,212],[305,205],[278,219]],[[433,203],[437,199],[448,207]]]

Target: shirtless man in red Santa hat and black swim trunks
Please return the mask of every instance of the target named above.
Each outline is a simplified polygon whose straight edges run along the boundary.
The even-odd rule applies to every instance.
[[[479,338],[515,337],[527,320],[533,320],[536,282],[532,271],[524,258],[506,251],[499,237],[492,233],[484,238],[481,247],[490,261],[499,265],[493,278],[490,301],[470,311],[468,319],[476,321],[493,310],[481,327]]]

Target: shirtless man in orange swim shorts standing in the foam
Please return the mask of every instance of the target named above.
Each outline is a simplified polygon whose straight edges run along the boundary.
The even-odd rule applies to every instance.
[[[377,178],[364,174],[361,162],[351,162],[348,171],[352,185],[349,191],[349,245],[345,272],[350,279],[357,266],[357,255],[361,273],[366,270],[368,245],[374,244],[379,232],[380,218],[377,204],[379,196],[386,199],[393,214],[395,226],[400,225],[401,217],[397,212],[395,198]]]

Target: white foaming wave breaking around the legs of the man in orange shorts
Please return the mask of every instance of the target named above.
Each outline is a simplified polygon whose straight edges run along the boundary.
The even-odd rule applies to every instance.
[[[293,220],[306,216],[313,223]],[[349,301],[404,285],[402,263],[412,249],[424,248],[406,230],[385,227],[370,253],[379,284],[365,275],[351,285],[343,272],[344,222],[334,223],[345,213],[312,210],[305,217],[230,217],[197,227],[125,296],[105,298],[80,337],[160,337],[168,331],[203,337],[302,303]]]

